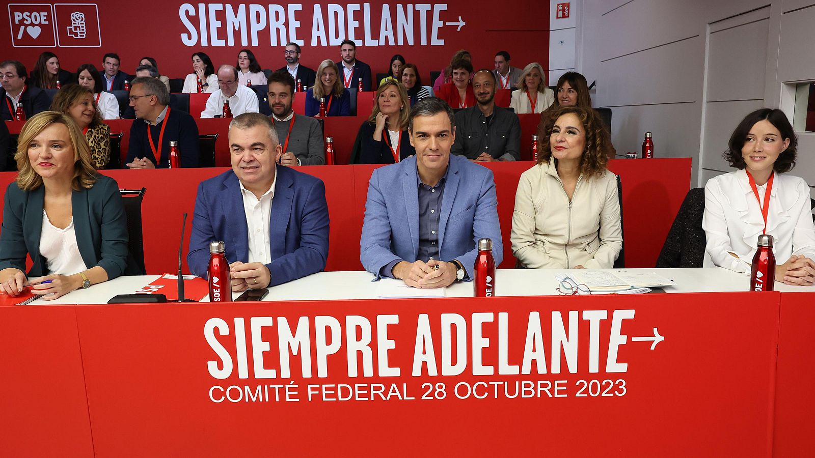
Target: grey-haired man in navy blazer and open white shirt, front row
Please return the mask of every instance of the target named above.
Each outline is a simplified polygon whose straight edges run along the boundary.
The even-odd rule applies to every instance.
[[[229,124],[232,170],[200,183],[187,264],[207,278],[209,243],[222,240],[232,291],[260,289],[324,270],[328,204],[319,178],[275,166],[283,152],[260,113]]]

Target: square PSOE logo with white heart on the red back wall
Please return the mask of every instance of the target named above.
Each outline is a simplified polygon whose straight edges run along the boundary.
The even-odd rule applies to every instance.
[[[15,48],[54,47],[54,8],[48,3],[9,3],[11,46]]]

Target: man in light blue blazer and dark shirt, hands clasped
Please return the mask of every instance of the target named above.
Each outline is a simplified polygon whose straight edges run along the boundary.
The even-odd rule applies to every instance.
[[[472,280],[478,239],[492,240],[496,265],[504,253],[492,171],[450,155],[456,127],[441,99],[416,103],[408,133],[416,156],[371,176],[359,259],[377,280],[416,288]]]

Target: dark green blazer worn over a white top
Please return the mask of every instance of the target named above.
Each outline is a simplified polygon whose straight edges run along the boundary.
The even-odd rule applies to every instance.
[[[12,182],[6,189],[0,231],[0,269],[25,271],[25,255],[33,266],[29,277],[48,275],[46,259],[40,254],[42,207],[45,187],[23,191]],[[71,196],[77,247],[87,268],[101,266],[108,280],[120,276],[127,264],[127,217],[116,180],[102,174],[90,189]]]

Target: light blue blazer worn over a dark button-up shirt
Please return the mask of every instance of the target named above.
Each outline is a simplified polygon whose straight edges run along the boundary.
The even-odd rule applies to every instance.
[[[416,156],[373,171],[368,183],[359,260],[379,278],[392,261],[416,261],[419,253],[419,180]],[[504,259],[492,170],[450,155],[438,223],[438,253],[445,262],[457,259],[469,280],[478,255],[478,239],[492,239],[496,266]]]

